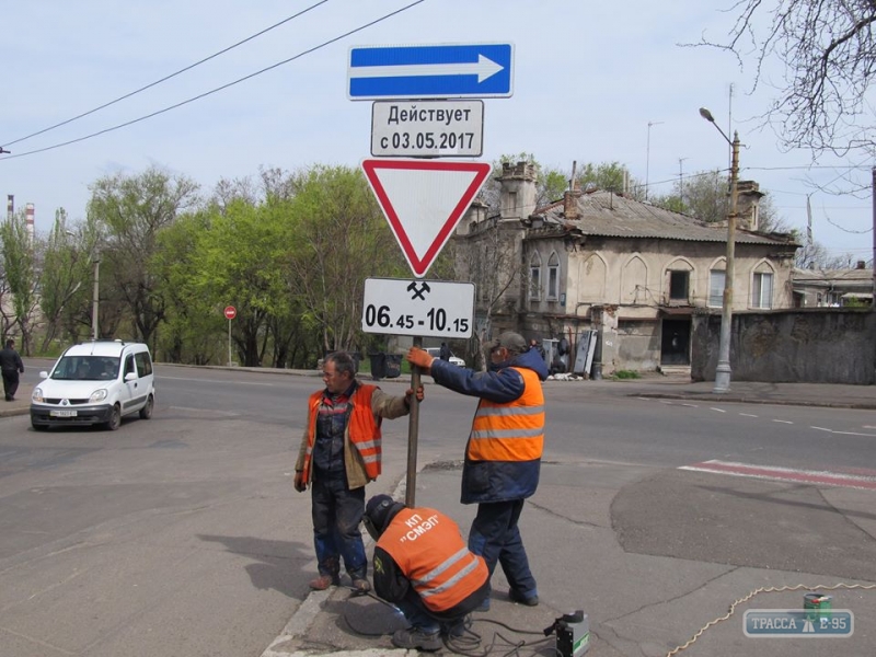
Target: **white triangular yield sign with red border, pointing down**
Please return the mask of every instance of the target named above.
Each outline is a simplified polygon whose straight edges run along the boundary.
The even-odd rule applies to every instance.
[[[362,170],[411,270],[422,278],[493,166],[446,160],[364,160]]]

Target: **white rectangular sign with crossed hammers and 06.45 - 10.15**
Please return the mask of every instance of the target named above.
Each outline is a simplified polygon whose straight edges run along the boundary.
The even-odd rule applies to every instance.
[[[473,283],[365,279],[365,333],[466,338],[473,319]]]

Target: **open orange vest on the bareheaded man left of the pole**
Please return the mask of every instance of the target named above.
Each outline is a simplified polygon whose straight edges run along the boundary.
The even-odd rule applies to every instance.
[[[374,390],[377,390],[376,385],[360,383],[356,387],[353,396],[349,399],[353,408],[344,440],[346,442],[348,439],[359,452],[365,464],[365,474],[369,481],[380,476],[382,456],[380,420],[374,417],[374,413],[371,410],[371,395],[373,395]],[[320,414],[322,397],[323,391],[319,391],[311,394],[308,401],[310,411],[308,414],[308,448],[304,452],[304,464],[302,466],[302,476],[306,482],[310,481],[310,462],[313,456],[313,443],[316,440],[316,417]],[[346,453],[346,446],[344,451]]]

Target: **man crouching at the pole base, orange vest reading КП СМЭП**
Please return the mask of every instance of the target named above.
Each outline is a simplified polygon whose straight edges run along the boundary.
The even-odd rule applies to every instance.
[[[377,541],[374,592],[411,623],[392,635],[392,645],[440,649],[441,634],[461,634],[465,615],[489,595],[484,558],[470,552],[459,526],[435,509],[374,495],[362,520]]]

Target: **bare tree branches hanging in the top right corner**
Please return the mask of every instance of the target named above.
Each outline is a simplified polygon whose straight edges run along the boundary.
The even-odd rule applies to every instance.
[[[876,69],[876,3],[872,0],[740,0],[729,39],[710,45],[734,53],[740,65],[754,54],[754,84],[773,58],[784,84],[764,118],[787,148],[814,155],[872,153],[874,114],[867,99]],[[773,74],[772,72],[770,73]]]

